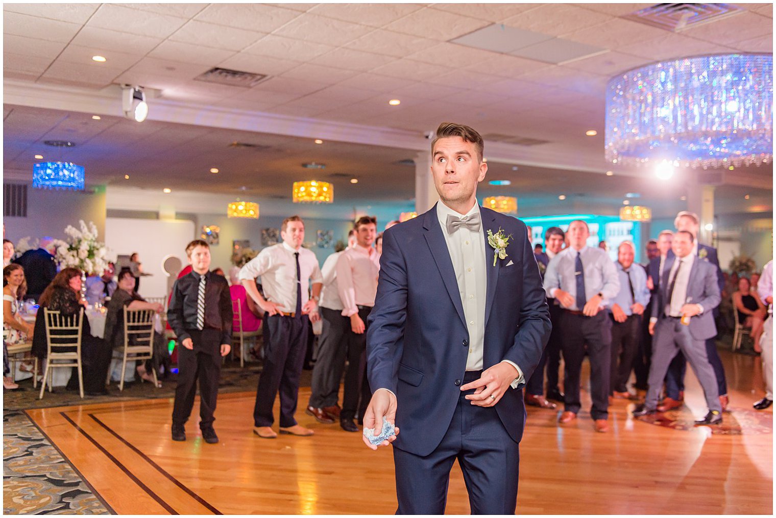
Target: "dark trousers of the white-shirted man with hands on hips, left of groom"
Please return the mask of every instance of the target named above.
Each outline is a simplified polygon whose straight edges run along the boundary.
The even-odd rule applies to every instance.
[[[265,322],[269,340],[264,341],[264,367],[258,378],[256,404],[253,409],[255,426],[272,426],[272,406],[280,392],[280,426],[296,425],[296,399],[304,354],[307,351],[307,315],[268,316]]]

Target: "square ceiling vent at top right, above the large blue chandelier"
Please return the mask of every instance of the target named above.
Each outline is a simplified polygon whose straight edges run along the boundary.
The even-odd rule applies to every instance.
[[[655,4],[622,18],[677,32],[739,12],[743,9],[732,4]]]

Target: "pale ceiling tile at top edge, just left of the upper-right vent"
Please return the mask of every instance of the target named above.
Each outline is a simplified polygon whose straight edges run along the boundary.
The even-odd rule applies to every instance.
[[[569,4],[545,4],[504,20],[504,25],[561,36],[611,21],[612,17]]]

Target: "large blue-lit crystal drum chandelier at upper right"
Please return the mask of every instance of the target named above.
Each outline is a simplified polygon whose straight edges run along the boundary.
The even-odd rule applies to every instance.
[[[613,164],[767,164],[773,56],[725,54],[650,64],[611,78],[605,157]]]

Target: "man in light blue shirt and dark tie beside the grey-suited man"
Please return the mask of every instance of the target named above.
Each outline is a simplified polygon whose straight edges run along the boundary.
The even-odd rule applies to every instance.
[[[611,392],[615,398],[632,399],[628,392],[628,378],[639,350],[639,326],[644,308],[650,303],[650,289],[646,287],[646,272],[633,257],[636,246],[623,241],[617,249],[617,275],[620,291],[611,299]]]

